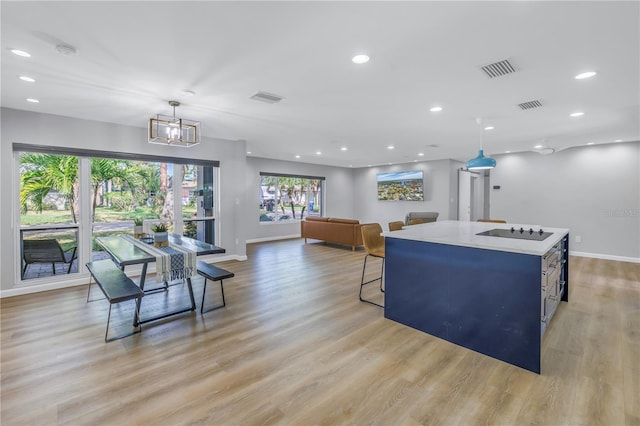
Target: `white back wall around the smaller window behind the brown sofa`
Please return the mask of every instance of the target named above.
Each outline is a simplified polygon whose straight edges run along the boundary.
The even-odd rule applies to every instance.
[[[343,218],[354,217],[352,169],[248,157],[245,189],[250,201],[249,208],[247,208],[249,215],[245,225],[250,236],[249,241],[300,236],[299,222],[259,222],[260,172],[325,177],[324,215]]]

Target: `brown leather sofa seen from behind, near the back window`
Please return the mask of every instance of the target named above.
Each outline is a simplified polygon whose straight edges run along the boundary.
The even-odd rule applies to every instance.
[[[355,250],[362,245],[360,222],[355,219],[338,219],[335,217],[307,217],[300,221],[300,234],[307,238],[329,243],[345,244]]]

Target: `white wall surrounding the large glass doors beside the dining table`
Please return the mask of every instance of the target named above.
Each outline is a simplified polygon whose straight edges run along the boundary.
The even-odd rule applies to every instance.
[[[17,194],[14,191],[13,143],[52,145],[70,148],[95,149],[130,153],[145,153],[182,158],[202,158],[220,161],[220,216],[218,245],[228,255],[242,258],[246,255],[244,241],[247,220],[246,193],[241,183],[245,181],[244,141],[203,138],[198,146],[186,149],[147,143],[147,129],[120,126],[97,121],[78,120],[50,114],[1,109],[0,140],[0,290],[16,287],[15,270],[20,266],[14,246],[18,224],[16,218]],[[237,182],[240,184],[236,185]],[[236,238],[238,243],[236,244]],[[20,284],[24,286],[25,284]]]

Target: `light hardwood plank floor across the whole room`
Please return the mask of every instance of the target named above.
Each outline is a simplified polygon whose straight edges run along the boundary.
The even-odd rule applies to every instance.
[[[218,264],[236,274],[226,308],[112,343],[86,286],[3,299],[0,423],[640,424],[639,264],[571,258],[537,375],[359,302],[362,251],[286,240],[247,254]],[[185,301],[176,285],[143,315]],[[116,332],[131,309],[114,308]]]

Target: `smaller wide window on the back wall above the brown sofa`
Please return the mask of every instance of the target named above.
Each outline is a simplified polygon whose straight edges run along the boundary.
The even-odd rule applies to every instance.
[[[260,173],[260,222],[322,216],[323,177]]]

